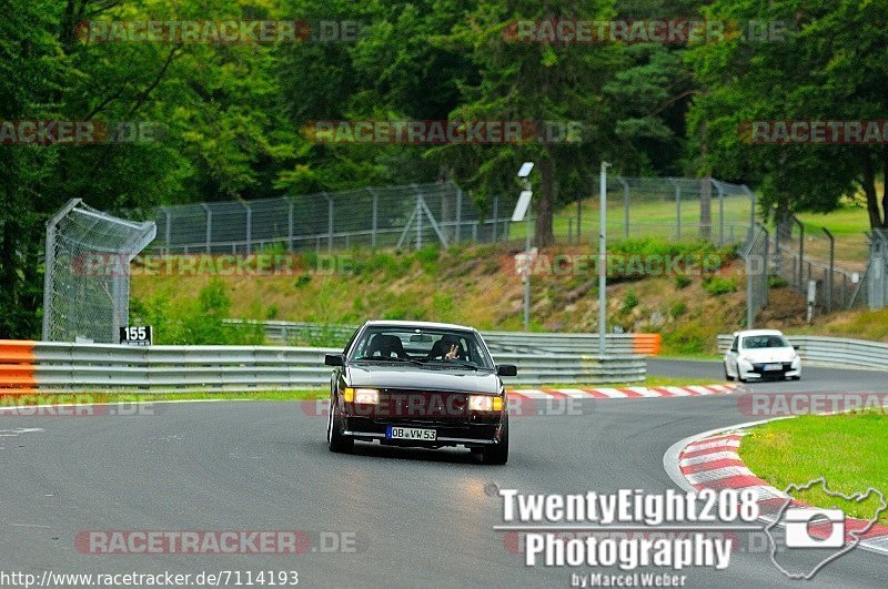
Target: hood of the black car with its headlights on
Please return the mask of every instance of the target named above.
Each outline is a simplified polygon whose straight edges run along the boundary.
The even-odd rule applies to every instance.
[[[490,370],[420,368],[418,366],[350,365],[349,386],[450,390],[454,393],[500,393],[500,377]]]

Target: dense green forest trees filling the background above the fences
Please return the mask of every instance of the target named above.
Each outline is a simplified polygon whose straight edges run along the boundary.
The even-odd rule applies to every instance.
[[[0,337],[36,335],[43,223],[67,200],[159,203],[454,179],[484,204],[537,163],[537,240],[587,194],[599,162],[624,174],[707,175],[760,189],[768,211],[829,211],[865,195],[888,226],[888,148],[753,145],[755,119],[880,119],[888,4],[877,0],[0,0],[0,122],[150,121],[152,142],[0,144]],[[517,21],[781,21],[786,37],[703,43],[515,42]],[[319,19],[353,39],[97,42],[83,21]],[[316,32],[316,31],[313,31]],[[327,144],[332,120],[572,121],[579,141]],[[2,142],[0,142],[2,143]],[[879,190],[881,189],[881,194]]]

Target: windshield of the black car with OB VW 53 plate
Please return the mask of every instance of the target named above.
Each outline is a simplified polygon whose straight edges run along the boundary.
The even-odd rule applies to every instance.
[[[430,368],[494,367],[475,332],[408,326],[367,327],[352,346],[349,359],[411,362]]]

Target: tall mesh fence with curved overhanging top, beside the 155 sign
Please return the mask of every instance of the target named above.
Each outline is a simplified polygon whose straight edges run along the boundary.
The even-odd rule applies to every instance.
[[[129,265],[155,235],[80,199],[47,223],[43,341],[117,343],[129,318]]]

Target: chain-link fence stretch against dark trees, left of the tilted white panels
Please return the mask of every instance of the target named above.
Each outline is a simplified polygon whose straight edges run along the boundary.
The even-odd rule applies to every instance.
[[[162,253],[421,248],[506,237],[514,197],[487,210],[452,182],[367,187],[260,201],[200,203],[158,211]]]

